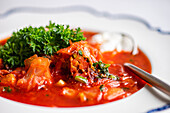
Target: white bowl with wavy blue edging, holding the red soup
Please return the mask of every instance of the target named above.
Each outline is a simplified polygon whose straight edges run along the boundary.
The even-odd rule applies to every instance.
[[[65,7],[63,8],[64,10],[62,8],[54,8],[54,11],[49,9],[49,13],[45,9],[43,12],[38,8],[27,8],[27,10],[20,8],[20,10],[14,10],[15,13],[7,12],[0,15],[0,39],[9,36],[12,31],[25,26],[47,25],[49,20],[90,31],[123,32],[131,35],[148,56],[152,64],[152,73],[165,82],[170,82],[170,34],[168,32],[157,32],[146,21],[137,17],[113,15],[86,8]],[[34,13],[34,10],[36,13]],[[154,88],[145,86],[125,99],[90,107],[40,107],[0,97],[0,109],[3,113],[141,113],[161,107],[167,102],[170,101],[162,93]],[[164,112],[168,111],[170,110],[168,109]]]

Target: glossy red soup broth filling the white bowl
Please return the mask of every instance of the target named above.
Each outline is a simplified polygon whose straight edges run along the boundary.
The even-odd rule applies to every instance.
[[[84,36],[87,37],[87,41],[90,41],[91,36],[94,34],[96,33],[84,32]],[[4,44],[5,42],[6,40],[2,40],[0,44]],[[98,47],[98,45],[92,46]],[[66,49],[63,49],[60,52],[63,51],[66,51]],[[98,55],[96,59],[100,58],[98,53],[95,53],[95,56],[96,55]],[[68,67],[64,67],[65,72],[63,72],[61,69],[58,69],[58,67],[65,66],[65,64],[63,65],[61,61],[56,64],[57,66],[55,65],[55,67],[50,67],[52,83],[49,81],[49,84],[47,84],[45,87],[42,86],[42,88],[39,89],[32,88],[32,90],[29,91],[9,85],[12,89],[10,92],[5,92],[3,88],[6,85],[0,84],[0,96],[21,103],[38,106],[81,107],[98,105],[123,99],[144,87],[145,82],[139,79],[133,73],[126,70],[123,66],[125,62],[129,62],[151,73],[151,63],[147,56],[140,49],[137,55],[132,55],[130,52],[124,51],[116,52],[115,54],[113,51],[110,51],[102,53],[102,56],[102,61],[104,63],[111,64],[109,67],[109,73],[116,76],[117,80],[110,80],[108,78],[101,79],[97,77],[88,78],[85,74],[83,77],[87,77],[87,80],[89,81],[88,84],[75,81],[72,79],[72,77],[68,78],[68,72],[66,70]],[[54,56],[53,59],[55,58],[57,57]],[[82,62],[85,66],[86,62],[82,61],[81,58],[82,57],[80,56],[77,61]],[[60,60],[65,59],[67,59],[67,55],[64,56],[64,59]],[[74,64],[75,62],[72,62],[73,66],[76,65]],[[81,65],[79,65],[79,68],[80,66]],[[84,67],[82,68],[87,71]],[[72,71],[72,73],[77,76],[77,72],[74,71],[74,68],[72,68]],[[2,73],[5,73],[3,69],[0,70],[1,76]],[[17,80],[19,80],[19,78],[22,78],[24,73],[27,73],[27,71],[26,69],[18,68],[12,70],[11,73],[17,75]],[[78,74],[79,73],[83,72],[78,72]],[[23,82],[21,81],[21,83]]]

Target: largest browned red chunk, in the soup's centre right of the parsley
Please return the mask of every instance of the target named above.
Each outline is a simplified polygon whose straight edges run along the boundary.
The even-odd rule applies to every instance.
[[[90,79],[92,83],[93,81],[91,78],[98,74],[92,65],[101,58],[101,53],[97,49],[88,45],[86,41],[80,41],[59,50],[52,58],[52,61],[57,61],[55,64],[56,71],[64,70],[79,82],[87,83],[90,82],[88,81]],[[58,68],[58,65],[62,67]]]

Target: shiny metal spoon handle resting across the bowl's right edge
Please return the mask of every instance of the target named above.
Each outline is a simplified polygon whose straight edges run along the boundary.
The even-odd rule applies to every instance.
[[[147,73],[146,71],[140,69],[139,67],[136,67],[133,64],[125,63],[124,66],[127,67],[128,69],[130,69],[133,73],[135,73],[137,76],[139,76],[141,79],[143,79],[144,81],[146,81],[150,85],[156,87],[157,89],[159,89],[163,93],[170,96],[170,86],[168,84],[166,84],[165,82],[163,82],[162,80],[160,80],[160,79],[156,78],[155,76]]]

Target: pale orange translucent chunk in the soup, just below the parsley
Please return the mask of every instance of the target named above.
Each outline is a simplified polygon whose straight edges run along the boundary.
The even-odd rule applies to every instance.
[[[17,86],[26,89],[27,91],[42,86],[51,84],[50,60],[44,57],[37,57],[31,61],[30,67],[26,75],[19,79]]]

